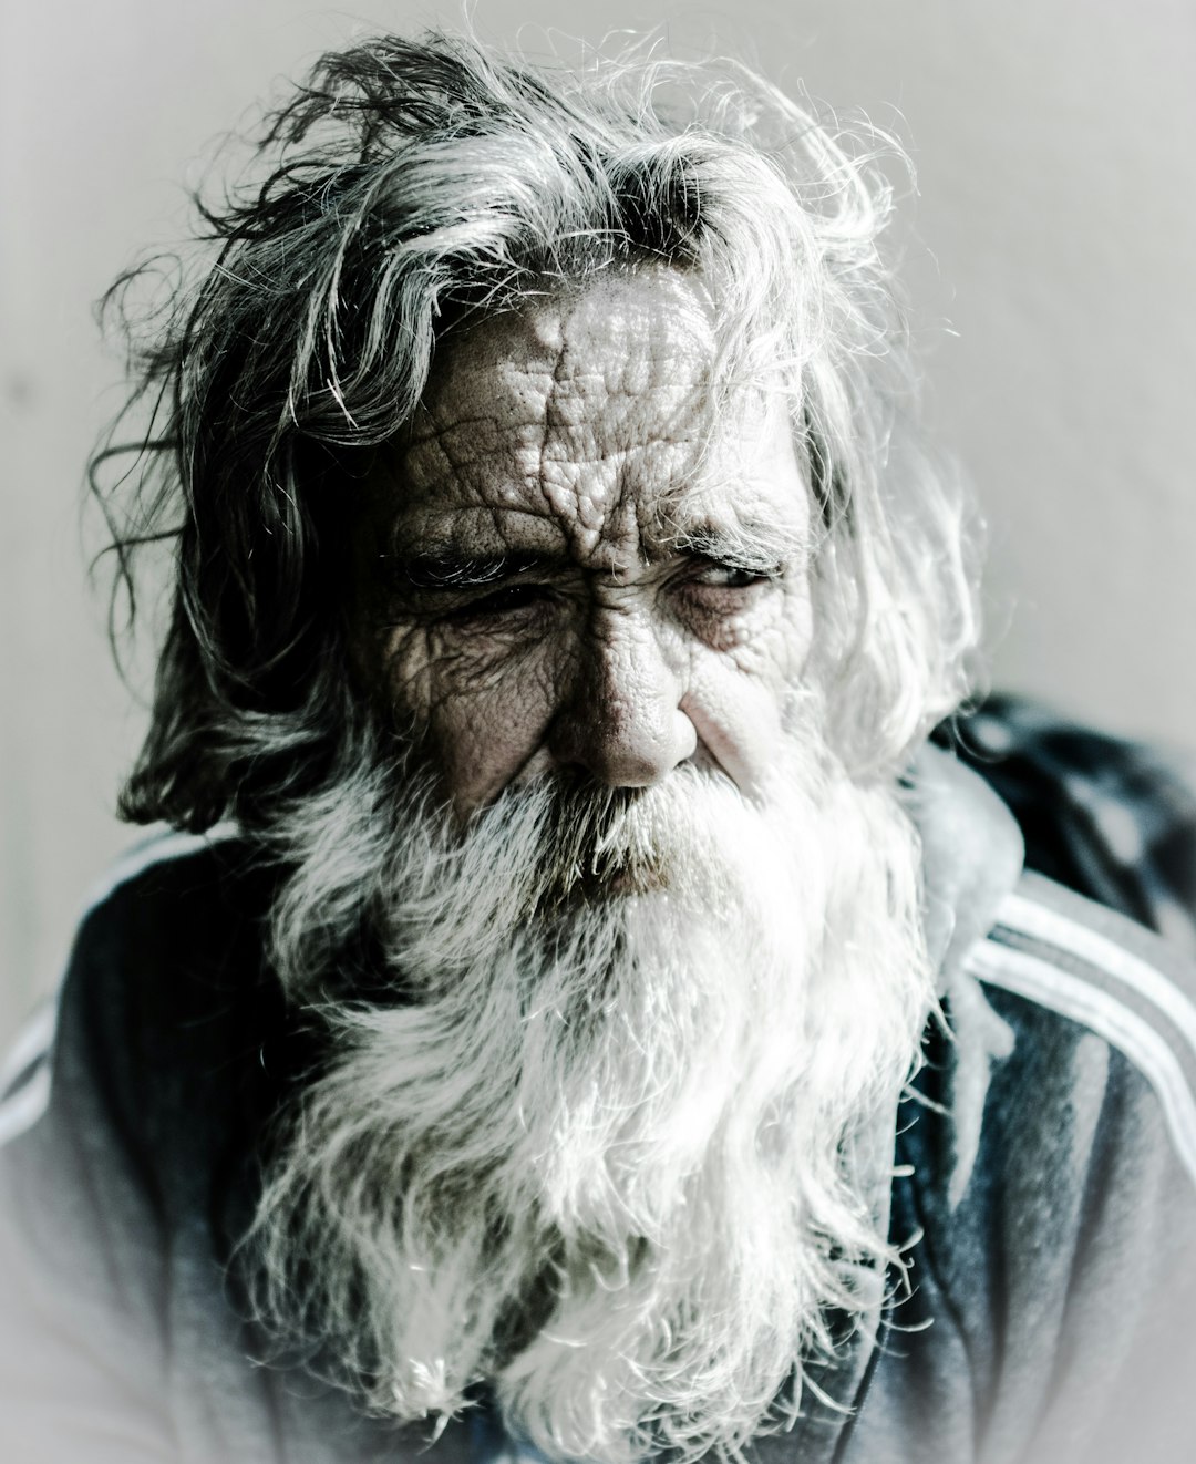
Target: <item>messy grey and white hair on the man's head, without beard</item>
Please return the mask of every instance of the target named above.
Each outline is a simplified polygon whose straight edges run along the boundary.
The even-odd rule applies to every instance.
[[[199,202],[215,258],[151,261],[108,296],[130,410],[149,411],[92,467],[117,586],[132,597],[136,550],[174,543],[123,813],[253,829],[325,786],[372,716],[347,593],[370,452],[461,322],[649,261],[701,274],[728,372],[786,370],[824,526],[810,675],[845,764],[900,766],[965,690],[975,615],[959,495],[909,430],[881,155],[874,129],[730,63],[641,48],[565,72],[442,34],[325,56],[268,116],[252,182]],[[165,294],[138,315],[155,280]]]

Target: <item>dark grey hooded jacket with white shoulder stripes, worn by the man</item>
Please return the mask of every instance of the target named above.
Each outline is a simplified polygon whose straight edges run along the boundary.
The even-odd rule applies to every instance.
[[[1020,874],[979,780],[915,815],[952,1035],[931,1026],[878,1198],[911,1244],[826,1394],[757,1452],[802,1464],[1196,1460],[1196,978]],[[0,1105],[0,1460],[370,1464],[426,1430],[253,1364],[228,1255],[303,1038],[262,969],[271,875],[165,836],[86,915]],[[883,1293],[889,1293],[887,1299]],[[511,1445],[485,1400],[430,1449]]]

